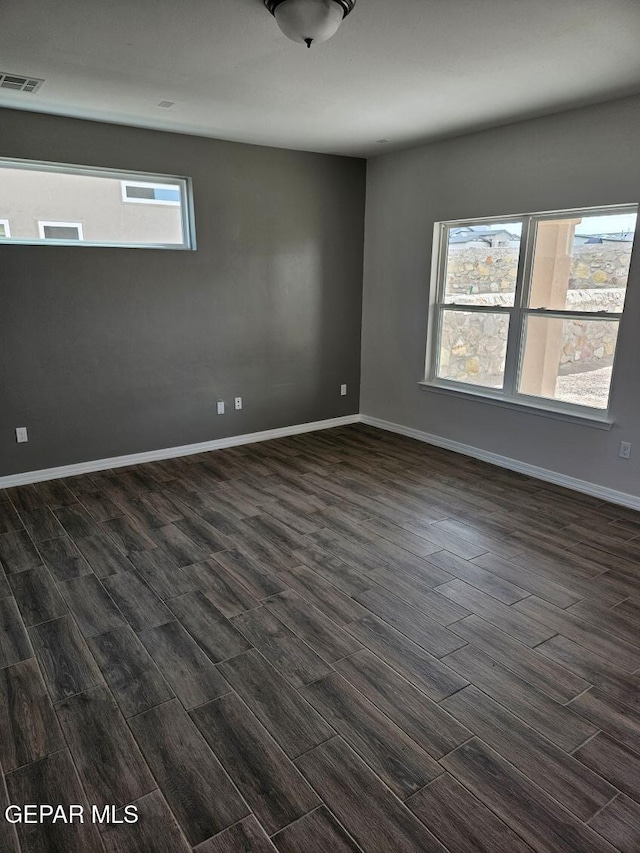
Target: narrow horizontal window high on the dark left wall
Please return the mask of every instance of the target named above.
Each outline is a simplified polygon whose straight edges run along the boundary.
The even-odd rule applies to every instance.
[[[0,159],[0,243],[193,249],[190,181]]]

